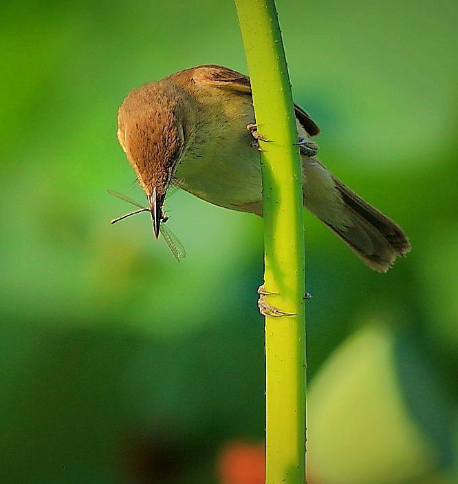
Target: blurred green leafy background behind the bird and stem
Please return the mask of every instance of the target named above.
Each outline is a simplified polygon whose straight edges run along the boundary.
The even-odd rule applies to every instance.
[[[457,482],[458,3],[278,9],[320,158],[413,246],[380,275],[306,215],[310,480]],[[106,192],[143,200],[129,90],[246,72],[232,1],[3,0],[0,45],[0,482],[261,483],[262,220],[176,193],[177,264]]]

